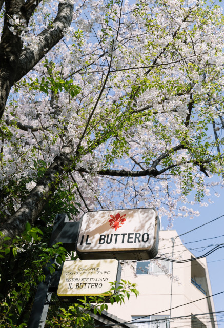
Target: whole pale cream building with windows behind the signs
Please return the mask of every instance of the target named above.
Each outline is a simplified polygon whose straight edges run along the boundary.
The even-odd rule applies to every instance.
[[[177,260],[194,258],[177,235],[175,230],[160,231],[159,253],[173,253]],[[217,328],[206,258],[132,265],[124,267],[121,279],[137,283],[139,296],[130,296],[125,305],[108,305],[108,313],[144,328]]]

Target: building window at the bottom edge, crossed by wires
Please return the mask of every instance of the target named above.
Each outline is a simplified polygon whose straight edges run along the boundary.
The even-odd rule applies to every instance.
[[[170,316],[132,316],[133,324],[141,328],[169,328]]]

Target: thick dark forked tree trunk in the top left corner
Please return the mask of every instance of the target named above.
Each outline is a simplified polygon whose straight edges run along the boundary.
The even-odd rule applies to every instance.
[[[54,22],[42,31],[35,39],[35,44],[23,50],[23,43],[10,19],[16,16],[28,25],[29,19],[39,1],[8,0],[5,3],[6,12],[2,39],[0,43],[0,119],[3,116],[9,92],[13,84],[26,75],[40,59],[63,37],[64,29],[72,21],[73,5],[70,0],[59,2],[58,13]],[[14,28],[11,31],[10,28]]]

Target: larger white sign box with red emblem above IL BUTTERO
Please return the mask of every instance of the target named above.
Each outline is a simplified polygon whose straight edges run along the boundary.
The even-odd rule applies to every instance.
[[[87,212],[80,221],[76,252],[81,260],[151,259],[158,253],[158,236],[154,208]]]

